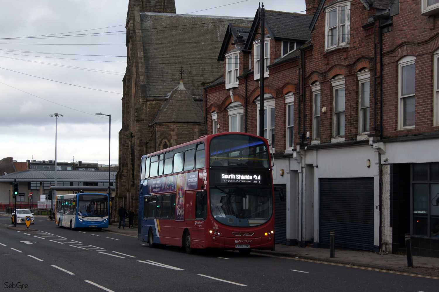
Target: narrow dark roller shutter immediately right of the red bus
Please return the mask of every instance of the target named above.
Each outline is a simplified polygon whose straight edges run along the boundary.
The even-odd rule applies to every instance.
[[[284,190],[285,201],[279,198],[277,187]],[[287,185],[274,184],[274,243],[285,244],[287,241]]]

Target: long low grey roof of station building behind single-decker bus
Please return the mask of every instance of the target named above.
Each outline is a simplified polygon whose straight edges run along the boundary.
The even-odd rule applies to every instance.
[[[116,175],[115,171],[110,172]],[[8,173],[0,177],[0,183],[13,182],[53,182],[55,178],[54,170],[35,170]],[[58,182],[108,182],[108,171],[81,171],[81,170],[58,170]]]

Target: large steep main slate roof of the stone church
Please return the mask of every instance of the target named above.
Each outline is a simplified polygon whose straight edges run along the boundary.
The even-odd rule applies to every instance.
[[[216,58],[227,25],[241,22],[236,17],[140,12],[147,97],[166,97],[179,82],[181,65],[189,95],[203,95],[200,84],[223,73]]]

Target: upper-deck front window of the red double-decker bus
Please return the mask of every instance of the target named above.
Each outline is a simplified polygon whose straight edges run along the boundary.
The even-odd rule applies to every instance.
[[[268,168],[268,151],[263,140],[245,135],[212,138],[209,148],[210,166]]]

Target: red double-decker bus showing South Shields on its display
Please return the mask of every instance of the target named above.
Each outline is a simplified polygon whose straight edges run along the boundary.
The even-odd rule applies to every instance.
[[[144,155],[138,238],[151,247],[272,250],[273,177],[267,140],[227,132]]]

